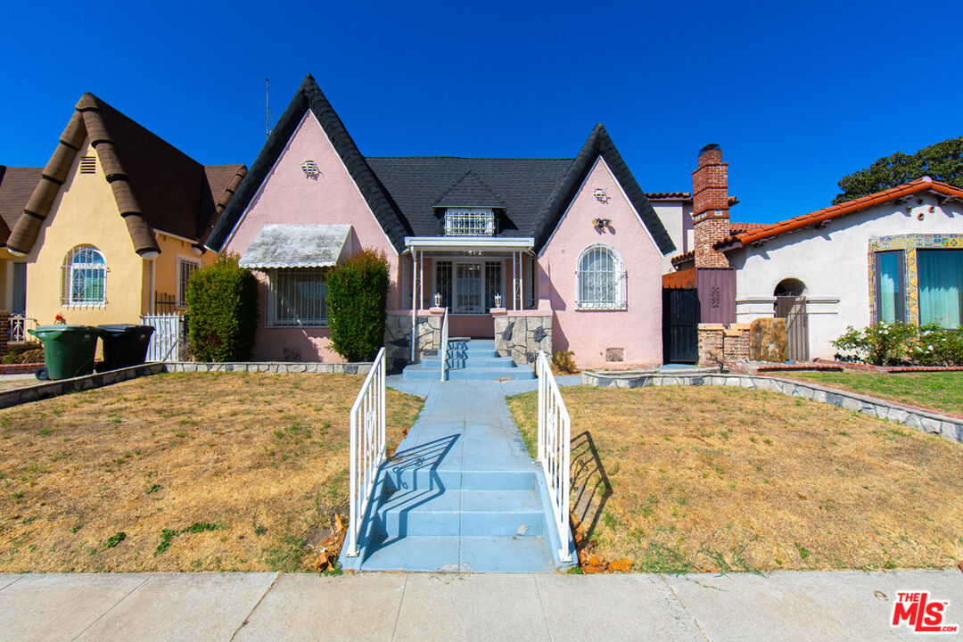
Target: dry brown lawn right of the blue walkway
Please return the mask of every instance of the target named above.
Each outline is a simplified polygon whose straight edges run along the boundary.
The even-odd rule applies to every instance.
[[[943,437],[763,391],[561,392],[573,516],[595,551],[636,571],[948,568],[963,558],[963,448]],[[528,443],[534,395],[509,398]]]

